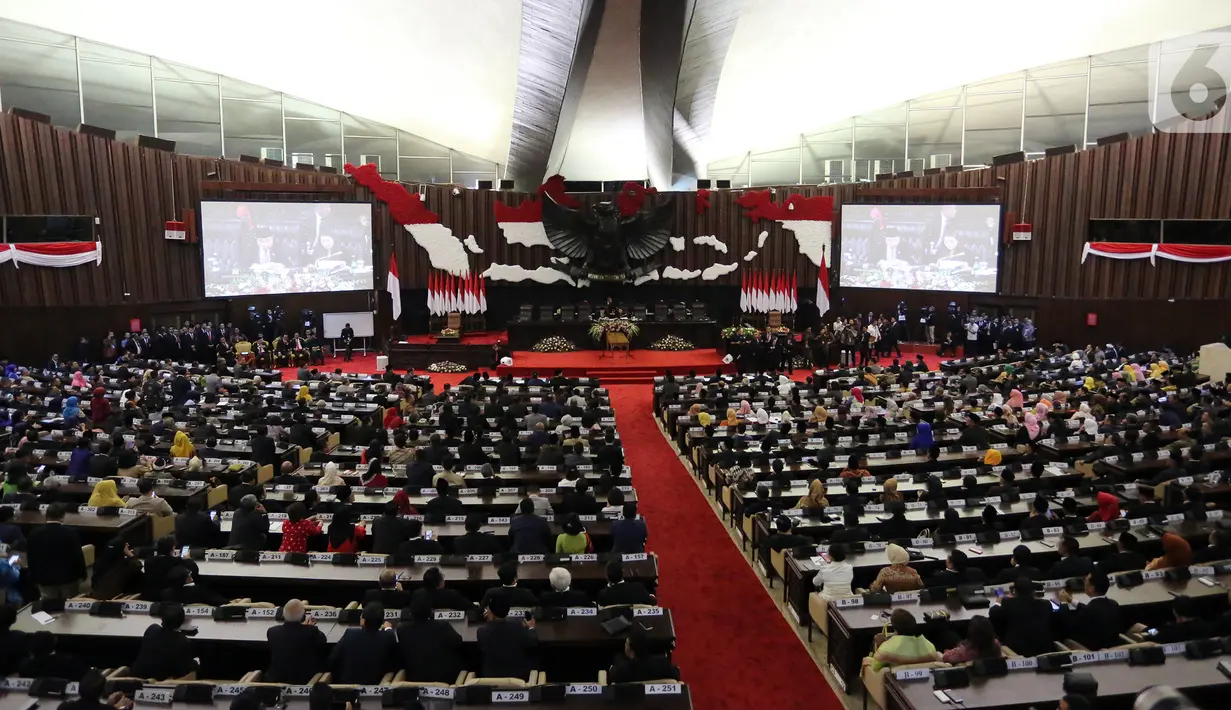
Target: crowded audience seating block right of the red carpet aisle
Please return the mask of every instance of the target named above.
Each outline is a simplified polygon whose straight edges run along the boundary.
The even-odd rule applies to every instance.
[[[667,375],[655,407],[865,706],[1054,706],[1087,673],[1107,706],[1150,683],[1210,701],[1231,653],[1231,397],[1193,365],[1087,348]]]

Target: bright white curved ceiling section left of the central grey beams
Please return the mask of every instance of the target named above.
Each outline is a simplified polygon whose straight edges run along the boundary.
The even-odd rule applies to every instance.
[[[521,0],[0,0],[0,16],[508,156]]]

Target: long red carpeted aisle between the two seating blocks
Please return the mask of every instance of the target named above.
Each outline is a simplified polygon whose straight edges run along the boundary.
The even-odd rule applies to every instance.
[[[649,385],[608,388],[640,512],[659,555],[675,661],[693,708],[841,709],[825,677],[654,420]]]

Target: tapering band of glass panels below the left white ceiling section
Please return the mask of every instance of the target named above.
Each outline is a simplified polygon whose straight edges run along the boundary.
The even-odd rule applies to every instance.
[[[265,86],[0,18],[0,110],[9,107],[64,128],[110,128],[119,140],[165,138],[188,155],[371,162],[387,180],[467,187],[501,175],[490,160]]]

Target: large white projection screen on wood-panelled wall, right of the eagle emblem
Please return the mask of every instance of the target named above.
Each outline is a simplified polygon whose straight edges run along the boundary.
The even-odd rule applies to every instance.
[[[843,204],[838,285],[996,293],[998,204]]]

